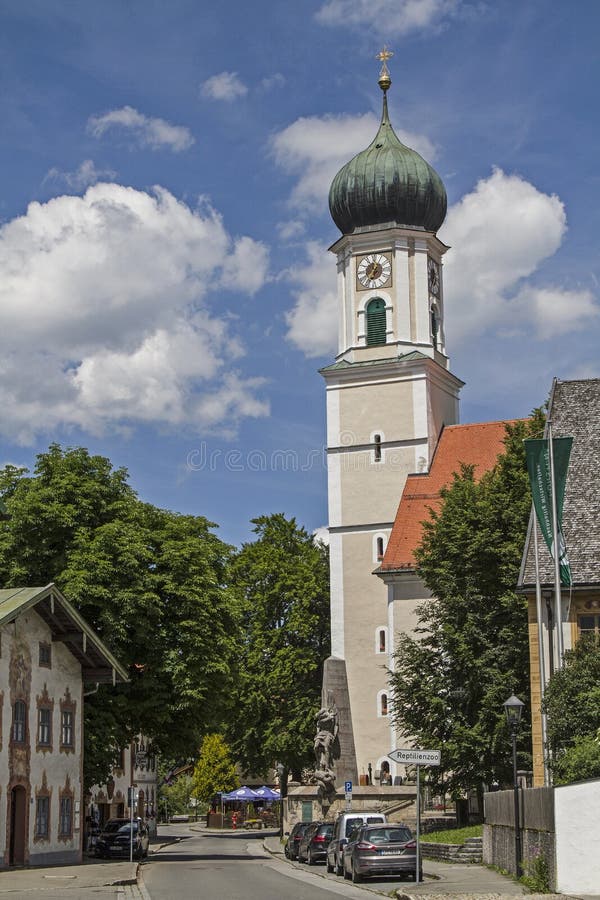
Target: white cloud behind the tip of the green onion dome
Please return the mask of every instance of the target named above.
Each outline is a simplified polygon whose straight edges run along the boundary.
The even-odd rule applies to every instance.
[[[373,113],[359,116],[311,116],[297,119],[275,135],[276,163],[298,176],[291,205],[313,212],[326,208],[327,195],[336,172],[356,153],[369,146],[379,128]],[[397,131],[400,140],[428,160],[434,147],[423,135]]]

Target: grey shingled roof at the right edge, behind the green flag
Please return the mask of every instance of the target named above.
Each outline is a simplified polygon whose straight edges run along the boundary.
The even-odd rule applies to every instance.
[[[563,507],[563,534],[574,587],[600,584],[600,378],[555,379],[548,419],[553,437],[573,437]],[[547,437],[547,427],[545,437]],[[538,529],[540,581],[554,584],[554,563]],[[519,588],[535,586],[531,522]]]

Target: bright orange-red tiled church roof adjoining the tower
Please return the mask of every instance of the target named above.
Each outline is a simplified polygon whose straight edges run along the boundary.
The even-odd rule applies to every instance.
[[[479,422],[444,428],[429,472],[406,479],[378,575],[415,569],[415,550],[421,543],[423,522],[429,519],[430,509],[439,507],[441,489],[450,484],[461,463],[475,466],[478,478],[492,469],[504,451],[506,424]]]

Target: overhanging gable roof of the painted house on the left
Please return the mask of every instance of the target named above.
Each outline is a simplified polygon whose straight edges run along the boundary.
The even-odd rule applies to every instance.
[[[129,681],[123,666],[56,585],[0,590],[0,625],[32,608],[50,628],[52,640],[61,641],[81,664],[84,681]]]

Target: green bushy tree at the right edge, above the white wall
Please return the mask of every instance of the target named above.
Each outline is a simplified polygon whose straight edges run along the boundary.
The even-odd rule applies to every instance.
[[[555,784],[600,778],[600,646],[583,636],[548,682],[549,767]]]

